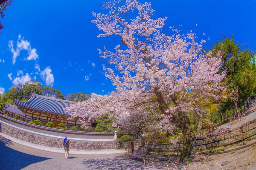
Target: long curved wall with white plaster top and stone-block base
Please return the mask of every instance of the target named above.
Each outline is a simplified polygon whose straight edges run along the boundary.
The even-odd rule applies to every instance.
[[[112,136],[86,136],[51,132],[48,130],[39,130],[32,127],[11,122],[0,117],[0,132],[34,144],[40,144],[49,147],[63,147],[65,136],[71,138],[70,147],[77,150],[102,150],[115,149],[116,142]],[[93,133],[92,133],[93,134]]]

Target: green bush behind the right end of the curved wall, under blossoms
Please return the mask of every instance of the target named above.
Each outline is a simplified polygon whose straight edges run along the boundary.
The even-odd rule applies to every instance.
[[[112,126],[113,119],[109,117],[109,114],[105,114],[104,116],[99,116],[96,122],[97,122],[97,125],[95,127],[96,132],[109,132],[114,129]]]

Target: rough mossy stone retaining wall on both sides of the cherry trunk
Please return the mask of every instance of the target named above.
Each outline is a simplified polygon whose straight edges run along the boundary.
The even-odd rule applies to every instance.
[[[182,148],[182,138],[182,135],[177,135],[150,141],[145,144],[144,150],[176,153]],[[198,136],[196,139],[196,149],[207,150],[254,138],[256,138],[256,119],[241,125],[238,129],[230,130],[230,132],[226,132],[222,135]]]

